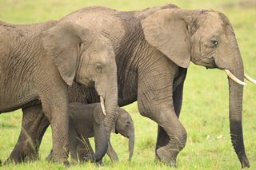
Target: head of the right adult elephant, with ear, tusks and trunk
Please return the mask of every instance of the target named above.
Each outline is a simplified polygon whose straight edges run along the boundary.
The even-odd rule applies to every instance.
[[[230,136],[242,168],[250,167],[242,136],[242,57],[234,30],[226,16],[214,10],[158,10],[142,21],[146,41],[175,64],[190,61],[206,68],[223,69],[230,87]],[[254,81],[255,82],[255,81]]]

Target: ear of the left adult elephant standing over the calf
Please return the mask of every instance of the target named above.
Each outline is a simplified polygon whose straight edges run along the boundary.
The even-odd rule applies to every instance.
[[[72,85],[78,66],[78,48],[90,30],[72,22],[57,24],[42,33],[46,54],[52,58],[62,79]]]

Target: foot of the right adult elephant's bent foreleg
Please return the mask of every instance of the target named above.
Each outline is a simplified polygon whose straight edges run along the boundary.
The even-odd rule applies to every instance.
[[[168,164],[170,167],[176,168],[177,153],[172,154],[166,146],[158,148],[156,152],[157,156],[155,161],[160,160],[164,164]]]

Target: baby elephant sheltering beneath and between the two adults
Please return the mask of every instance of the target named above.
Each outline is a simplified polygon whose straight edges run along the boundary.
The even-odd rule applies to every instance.
[[[69,127],[69,144],[70,156],[72,162],[77,162],[78,158],[81,162],[91,160],[94,150],[90,146],[88,138],[94,137],[95,151],[100,147],[101,140],[106,138],[104,132],[104,114],[100,103],[81,104],[70,103],[69,105],[70,127]],[[115,129],[113,132],[120,133],[122,136],[129,138],[129,160],[134,152],[134,122],[129,113],[118,107],[118,117],[115,121]],[[118,155],[109,142],[107,155],[110,160],[118,161]],[[47,160],[51,160],[53,152],[51,151]]]

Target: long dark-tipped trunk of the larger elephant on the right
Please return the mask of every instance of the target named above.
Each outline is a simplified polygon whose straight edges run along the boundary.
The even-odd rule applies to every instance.
[[[230,67],[230,72],[234,74],[240,81],[243,81],[244,69],[242,58],[235,56],[237,59],[233,62],[233,67]],[[235,64],[234,64],[235,63]],[[243,85],[238,84],[234,79],[228,78],[229,81],[229,118],[230,118],[230,136],[234,147],[234,151],[238,155],[238,159],[242,164],[242,168],[250,167],[250,163],[246,157],[246,151],[242,136],[242,96]]]

